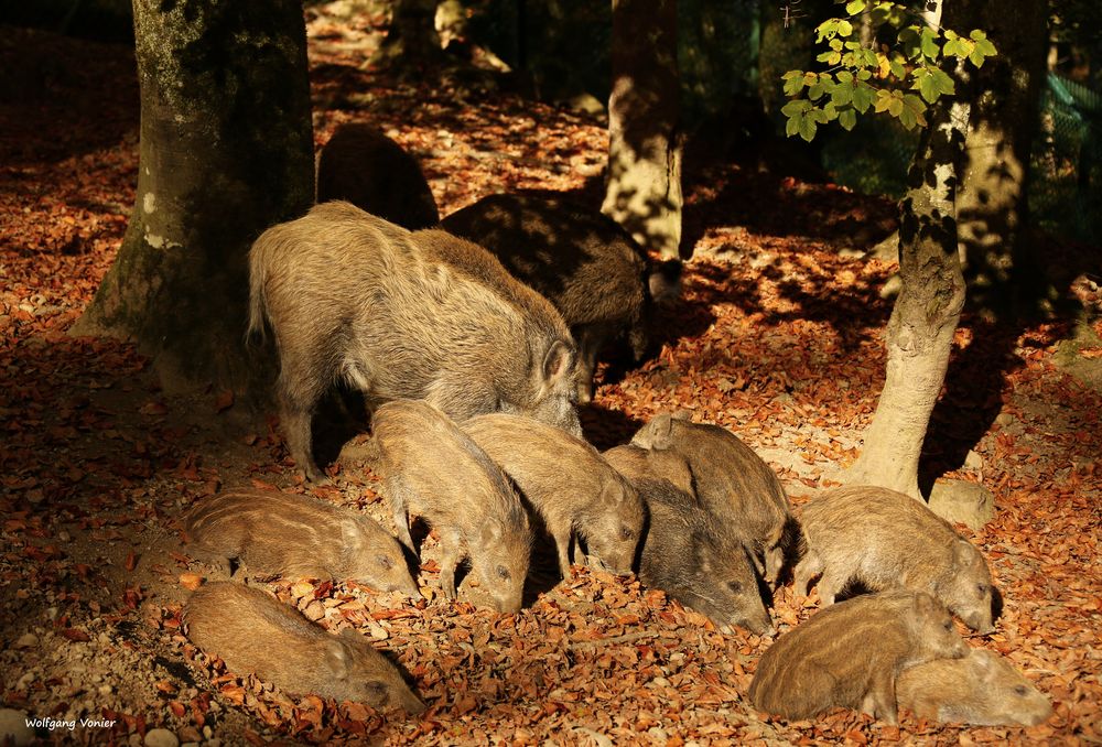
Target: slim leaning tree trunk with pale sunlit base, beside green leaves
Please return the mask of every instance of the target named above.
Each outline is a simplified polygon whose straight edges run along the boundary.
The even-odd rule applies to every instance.
[[[954,205],[970,110],[962,77],[957,76],[959,97],[931,109],[910,166],[900,204],[903,290],[887,326],[887,374],[864,448],[845,475],[850,484],[878,485],[917,499],[918,459],[964,305]]]

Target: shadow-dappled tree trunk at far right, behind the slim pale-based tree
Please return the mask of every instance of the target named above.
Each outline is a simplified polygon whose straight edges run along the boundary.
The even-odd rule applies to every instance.
[[[965,141],[957,198],[971,305],[1005,315],[1038,290],[1039,263],[1026,239],[1029,155],[1045,78],[1047,0],[1023,0],[1013,13],[987,2],[974,21],[998,55],[975,74],[982,91]]]

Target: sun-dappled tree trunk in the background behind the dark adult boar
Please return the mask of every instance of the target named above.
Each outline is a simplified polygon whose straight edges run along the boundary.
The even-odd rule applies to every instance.
[[[676,0],[613,0],[612,63],[601,209],[647,249],[676,259],[682,202]]]

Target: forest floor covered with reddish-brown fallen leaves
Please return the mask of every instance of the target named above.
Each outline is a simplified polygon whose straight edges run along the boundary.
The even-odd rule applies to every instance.
[[[479,76],[415,84],[368,69],[381,19],[311,19],[315,138],[369,120],[421,159],[442,214],[498,191],[596,204],[606,136],[590,116],[483,91]],[[1102,739],[1102,396],[1055,366],[1076,320],[965,315],[925,457],[930,475],[982,483],[994,521],[962,531],[1004,596],[996,632],[1055,715],[1030,728],[962,728],[849,711],[786,723],[746,692],[770,640],[717,631],[634,580],[580,571],[521,613],[441,600],[428,544],[415,605],[355,584],[269,588],[329,628],[371,636],[408,671],[422,717],[293,697],[212,665],[181,630],[209,574],[176,519],[238,485],[305,491],[274,419],[231,392],[170,396],[130,345],[73,338],[114,260],[134,198],[137,83],[125,47],[4,29],[0,69],[0,707],[110,725],[39,735],[79,744],[1098,744]],[[889,262],[862,255],[894,206],[690,151],[682,299],[656,323],[656,357],[605,367],[583,413],[602,447],[655,413],[731,427],[777,469],[796,505],[853,461],[883,383]],[[706,156],[706,158],[705,158]],[[1054,262],[1089,257],[1051,239]],[[1090,251],[1098,257],[1098,248]],[[1084,253],[1088,252],[1088,253]],[[1068,259],[1071,258],[1071,259]],[[1098,281],[1098,278],[1094,278]],[[1098,318],[1098,288],[1062,289]],[[1102,332],[1094,322],[1094,332]],[[1072,350],[1089,361],[1102,349]],[[324,499],[383,521],[363,435]],[[774,597],[780,635],[817,597]],[[963,629],[962,629],[963,630]],[[8,714],[11,715],[10,713]],[[163,730],[168,729],[171,736]],[[147,736],[148,735],[148,736]]]

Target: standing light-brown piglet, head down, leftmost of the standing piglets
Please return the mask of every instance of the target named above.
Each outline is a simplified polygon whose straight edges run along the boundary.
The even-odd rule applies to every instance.
[[[471,557],[472,572],[498,610],[520,609],[532,533],[528,513],[501,469],[455,423],[414,400],[387,402],[371,422],[382,494],[401,541],[413,539],[409,516],[440,534],[440,578],[455,598],[455,567]]]

